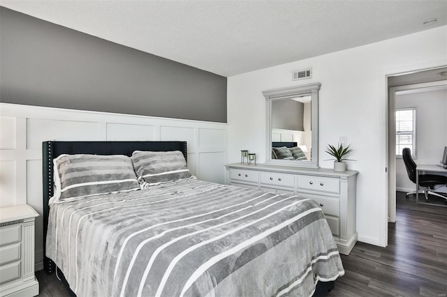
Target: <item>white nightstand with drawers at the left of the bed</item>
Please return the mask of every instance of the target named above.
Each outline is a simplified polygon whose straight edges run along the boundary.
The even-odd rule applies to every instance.
[[[27,205],[0,208],[0,296],[36,296],[34,218]]]

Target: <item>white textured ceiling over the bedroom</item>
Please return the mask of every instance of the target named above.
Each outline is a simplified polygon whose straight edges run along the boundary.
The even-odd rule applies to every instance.
[[[447,24],[445,0],[0,0],[0,5],[226,77]],[[438,22],[423,24],[432,17]]]

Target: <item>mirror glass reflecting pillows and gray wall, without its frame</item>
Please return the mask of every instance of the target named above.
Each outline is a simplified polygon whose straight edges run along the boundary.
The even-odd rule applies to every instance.
[[[272,100],[272,159],[311,161],[312,96]]]

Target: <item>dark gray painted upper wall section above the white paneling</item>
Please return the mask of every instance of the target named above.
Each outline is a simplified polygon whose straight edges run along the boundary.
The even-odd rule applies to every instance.
[[[0,101],[226,123],[227,79],[0,7]]]

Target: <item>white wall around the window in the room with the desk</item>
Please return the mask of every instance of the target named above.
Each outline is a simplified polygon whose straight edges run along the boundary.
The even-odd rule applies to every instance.
[[[426,91],[396,95],[396,108],[416,107],[416,164],[439,164],[447,146],[447,91]],[[447,174],[446,174],[447,175]],[[396,159],[396,189],[416,190],[409,180],[402,158]],[[447,192],[446,187],[439,192]]]

